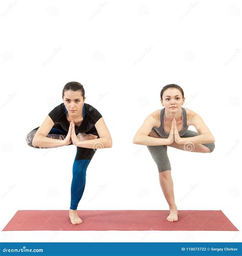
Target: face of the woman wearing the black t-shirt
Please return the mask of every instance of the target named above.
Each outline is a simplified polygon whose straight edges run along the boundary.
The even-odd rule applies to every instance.
[[[70,116],[79,116],[82,113],[84,101],[80,90],[64,92],[63,102]]]

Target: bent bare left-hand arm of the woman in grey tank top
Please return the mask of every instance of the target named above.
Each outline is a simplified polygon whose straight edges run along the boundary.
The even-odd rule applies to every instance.
[[[154,138],[148,136],[151,134],[152,128],[154,126],[156,126],[156,119],[153,115],[149,115],[135,134],[133,143],[147,146],[161,146],[171,144],[172,142],[170,142],[169,139]]]

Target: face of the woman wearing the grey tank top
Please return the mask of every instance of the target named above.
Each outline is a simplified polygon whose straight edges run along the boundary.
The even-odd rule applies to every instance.
[[[169,112],[177,112],[181,110],[181,106],[185,101],[185,98],[182,98],[181,92],[176,88],[168,88],[163,92],[162,99],[160,100],[162,106],[165,107],[165,110]]]

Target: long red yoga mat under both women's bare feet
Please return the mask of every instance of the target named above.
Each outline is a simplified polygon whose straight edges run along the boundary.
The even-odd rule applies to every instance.
[[[83,223],[73,225],[68,210],[18,210],[3,231],[9,230],[226,230],[238,231],[221,210],[78,210]]]

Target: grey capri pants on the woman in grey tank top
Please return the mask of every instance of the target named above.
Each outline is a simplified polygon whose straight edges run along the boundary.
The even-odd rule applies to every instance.
[[[184,135],[181,136],[181,138],[188,138],[188,137],[195,137],[200,135],[197,132],[187,130]],[[204,143],[202,144],[206,147],[209,148],[210,153],[213,152],[215,144],[214,143]],[[147,146],[148,150],[151,153],[152,158],[157,164],[158,167],[158,172],[164,172],[165,170],[171,170],[171,163],[170,160],[167,156],[167,146],[166,145],[161,145],[161,146]],[[192,151],[192,147],[194,147],[194,144],[192,143],[187,143],[184,144],[184,150],[185,151]]]

